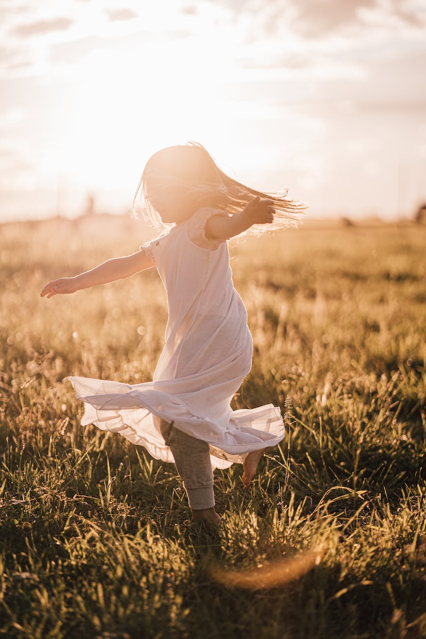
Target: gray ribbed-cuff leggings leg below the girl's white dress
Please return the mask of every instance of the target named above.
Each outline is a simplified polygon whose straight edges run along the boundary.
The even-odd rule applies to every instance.
[[[212,508],[215,505],[215,497],[208,443],[186,435],[156,415],[154,420],[165,443],[172,451],[190,508],[194,511]]]

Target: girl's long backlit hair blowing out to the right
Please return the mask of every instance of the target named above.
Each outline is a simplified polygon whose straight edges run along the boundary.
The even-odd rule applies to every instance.
[[[140,189],[141,197],[135,204]],[[158,189],[171,192],[173,197],[184,198],[192,213],[204,206],[239,213],[255,196],[271,199],[271,206],[275,208],[274,221],[271,224],[254,224],[241,235],[262,235],[297,226],[305,215],[304,209],[308,208],[304,202],[285,199],[288,189],[277,193],[257,191],[229,177],[199,142],[186,142],[157,151],[149,158],[139,180],[133,197],[133,214],[163,235],[174,224],[163,222],[153,205]]]

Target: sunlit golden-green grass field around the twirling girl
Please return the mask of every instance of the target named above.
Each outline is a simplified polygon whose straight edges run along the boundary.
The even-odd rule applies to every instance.
[[[287,436],[249,491],[240,465],[215,472],[216,535],[188,525],[173,465],[80,426],[62,382],[151,380],[156,270],[39,296],[144,233],[0,227],[0,635],[426,636],[426,227],[305,222],[232,243],[255,344],[233,406],[279,405]]]

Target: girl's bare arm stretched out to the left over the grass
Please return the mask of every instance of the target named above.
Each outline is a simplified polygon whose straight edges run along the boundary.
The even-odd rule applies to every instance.
[[[130,277],[142,271],[154,263],[146,254],[146,250],[138,250],[137,253],[124,258],[113,258],[103,262],[90,271],[75,275],[75,277],[61,277],[46,284],[40,293],[40,297],[52,297],[58,293],[75,293],[82,288],[91,288],[98,284],[114,282],[124,277]]]

